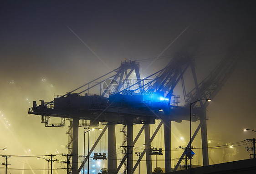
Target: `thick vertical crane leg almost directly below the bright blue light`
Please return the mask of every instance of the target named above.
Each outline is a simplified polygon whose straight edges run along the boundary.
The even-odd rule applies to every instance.
[[[164,168],[165,173],[171,172],[171,121],[169,118],[164,119]]]

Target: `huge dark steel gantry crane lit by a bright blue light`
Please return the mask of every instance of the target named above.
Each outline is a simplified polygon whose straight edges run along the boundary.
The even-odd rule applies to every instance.
[[[86,157],[78,168],[79,126],[98,126],[99,122],[106,124],[101,135],[90,150],[89,155],[108,129],[108,152],[113,152],[111,158],[108,158],[108,173],[117,174],[128,157],[128,174],[132,174],[138,166],[138,161],[143,158],[144,154],[146,154],[147,161],[151,161],[151,156],[148,154],[148,148],[145,148],[145,153],[140,156],[140,159],[134,166],[133,155],[129,153],[128,155],[123,155],[121,163],[117,166],[115,125],[123,124],[127,128],[123,144],[128,147],[135,145],[143,130],[145,133],[145,143],[152,143],[159,128],[164,124],[165,172],[169,172],[172,170],[170,155],[171,121],[181,122],[190,119],[189,102],[200,98],[215,97],[234,70],[236,61],[242,56],[242,51],[240,51],[242,50],[241,46],[236,46],[236,51],[228,51],[228,54],[222,59],[215,70],[198,84],[193,55],[198,51],[201,41],[201,37],[192,39],[183,49],[174,55],[174,58],[166,67],[148,77],[141,79],[139,63],[137,61],[125,60],[117,69],[63,96],[56,96],[51,102],[41,101],[41,104],[37,106],[34,101],[33,107],[29,109],[29,113],[41,115],[41,122],[45,123],[46,127],[64,126],[65,118],[70,121],[68,131],[69,145],[67,148],[73,154],[72,174],[78,174],[83,168],[84,163],[88,160],[88,157]],[[172,102],[172,98],[178,98],[173,94],[173,91],[178,82],[182,82],[183,88],[185,87],[183,75],[189,67],[194,78],[195,89],[189,93],[184,92],[186,104],[183,107],[179,107],[177,105],[178,101],[174,100],[174,102]],[[136,82],[130,83],[129,78],[132,76],[133,72],[135,72],[136,75]],[[90,95],[88,91],[93,87],[100,88],[100,92]],[[209,164],[208,152],[204,150],[206,149],[204,147],[207,147],[205,112],[207,105],[207,102],[201,101],[200,107],[197,106],[193,109],[192,120],[194,122],[198,119],[200,120],[199,127],[196,129],[191,141],[193,141],[201,128],[204,165]],[[61,123],[49,124],[48,120],[50,117],[61,118]],[[154,124],[155,119],[162,121],[159,123],[152,137],[150,137],[149,124]],[[83,120],[82,124],[79,124],[79,120]],[[133,138],[133,124],[143,124],[135,138]],[[177,169],[180,162],[181,161],[178,162],[174,170]],[[151,172],[152,164],[148,162],[147,173]]]

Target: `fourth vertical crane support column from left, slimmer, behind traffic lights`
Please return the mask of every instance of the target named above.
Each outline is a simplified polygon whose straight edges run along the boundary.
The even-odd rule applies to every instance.
[[[148,144],[150,141],[150,125],[146,124],[145,125],[145,144]],[[149,148],[150,146],[145,146],[146,150],[146,162],[147,162],[147,174],[152,174],[152,160],[151,160],[151,155],[149,154]]]

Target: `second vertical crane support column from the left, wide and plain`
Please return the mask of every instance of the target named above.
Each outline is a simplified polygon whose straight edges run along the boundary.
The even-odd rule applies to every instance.
[[[108,125],[108,174],[117,170],[116,125]]]

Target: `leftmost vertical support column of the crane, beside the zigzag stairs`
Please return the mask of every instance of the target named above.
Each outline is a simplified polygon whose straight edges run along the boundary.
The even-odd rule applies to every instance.
[[[78,166],[78,126],[79,126],[79,119],[73,118],[72,174],[77,173],[77,166]]]

